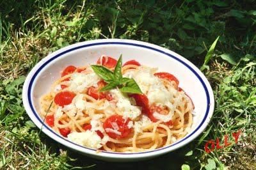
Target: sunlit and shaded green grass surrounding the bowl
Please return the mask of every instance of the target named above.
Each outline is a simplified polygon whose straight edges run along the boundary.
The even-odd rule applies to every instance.
[[[253,0],[1,1],[0,169],[255,169],[255,7]],[[205,132],[177,151],[129,164],[79,155],[40,132],[22,105],[25,76],[50,52],[97,38],[155,43],[204,70],[216,99]],[[204,151],[208,140],[222,144],[237,130],[237,144]]]

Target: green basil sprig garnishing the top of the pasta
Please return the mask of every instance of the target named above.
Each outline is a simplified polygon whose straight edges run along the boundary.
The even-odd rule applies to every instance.
[[[99,77],[101,77],[104,81],[108,82],[106,86],[99,90],[100,92],[109,91],[110,89],[118,87],[123,93],[142,94],[140,87],[134,81],[134,79],[123,77],[122,54],[116,63],[114,72],[100,65],[92,65],[92,69],[95,73],[97,73],[97,75],[99,75]]]

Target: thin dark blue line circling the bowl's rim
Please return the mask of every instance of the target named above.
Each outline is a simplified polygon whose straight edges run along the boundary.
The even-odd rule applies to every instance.
[[[142,48],[145,48],[145,49],[150,49],[150,50],[154,50],[156,52],[160,52],[162,54],[165,54],[166,56],[169,56],[170,58],[173,58],[177,61],[179,61],[180,63],[182,63],[183,65],[185,65],[187,68],[189,68],[189,70],[191,70],[191,72],[193,72],[196,77],[199,79],[199,81],[201,82],[202,86],[204,87],[204,90],[205,90],[205,95],[206,95],[206,98],[207,98],[207,109],[205,111],[205,116],[204,116],[204,119],[202,120],[202,122],[200,123],[200,125],[193,131],[191,132],[191,134],[189,135],[186,135],[184,138],[180,139],[179,141],[177,141],[177,143],[173,143],[169,146],[165,146],[163,148],[158,148],[156,150],[152,150],[152,151],[142,151],[142,152],[136,152],[136,153],[118,153],[118,152],[111,152],[111,151],[101,151],[103,153],[113,153],[113,154],[119,154],[119,155],[132,155],[132,154],[143,154],[143,153],[150,153],[150,152],[155,152],[155,151],[159,151],[159,150],[164,150],[166,148],[170,148],[172,146],[175,146],[179,143],[181,143],[182,141],[185,141],[186,139],[188,139],[191,135],[195,134],[195,132],[200,128],[202,127],[202,125],[204,124],[204,121],[206,120],[208,114],[209,114],[209,109],[210,109],[210,95],[209,95],[209,91],[205,85],[205,82],[202,80],[202,77],[200,77],[200,75],[198,75],[198,73],[193,70],[193,68],[191,68],[191,66],[189,66],[186,62],[182,61],[181,59],[173,56],[172,54],[169,54],[168,52],[164,52],[163,50],[159,50],[159,49],[156,49],[154,47],[149,47],[147,45],[141,45],[141,44],[137,44],[137,43],[127,43],[127,42],[100,42],[100,43],[89,43],[89,44],[86,44],[86,45],[80,45],[78,47],[74,47],[72,49],[68,49],[68,50],[65,50],[63,52],[61,52],[60,54],[56,54],[55,56],[53,56],[52,58],[48,59],[47,61],[45,61],[44,64],[42,64],[37,70],[36,72],[34,73],[33,77],[31,77],[31,80],[29,82],[29,86],[28,86],[28,101],[29,101],[29,107],[31,108],[33,114],[35,115],[36,119],[38,121],[40,121],[40,123],[42,123],[42,125],[47,128],[50,132],[52,132],[53,134],[57,135],[58,137],[61,137],[61,139],[64,139],[65,141],[67,141],[68,143],[71,143],[71,144],[75,144],[76,146],[79,146],[81,148],[86,148],[88,150],[92,150],[92,151],[97,151],[95,149],[92,149],[92,148],[87,148],[85,146],[81,146],[79,144],[76,144],[76,143],[73,143],[71,141],[69,141],[68,139],[62,137],[60,134],[57,134],[56,132],[54,132],[52,130],[52,128],[48,127],[47,125],[45,125],[44,121],[42,121],[42,119],[40,118],[40,116],[38,114],[36,114],[36,111],[35,111],[35,108],[33,107],[33,104],[32,104],[32,100],[31,100],[31,89],[32,89],[32,85],[33,85],[33,82],[35,81],[35,78],[36,76],[38,75],[38,73],[40,73],[40,70],[42,70],[42,68],[44,68],[46,65],[48,65],[49,63],[51,63],[51,61],[53,61],[54,59],[56,58],[59,58],[60,56],[62,56],[63,54],[67,54],[68,52],[71,52],[73,50],[77,50],[77,49],[82,49],[82,48],[85,48],[85,47],[92,47],[92,46],[96,46],[96,45],[130,45],[130,46],[136,46],[136,47],[142,47]]]

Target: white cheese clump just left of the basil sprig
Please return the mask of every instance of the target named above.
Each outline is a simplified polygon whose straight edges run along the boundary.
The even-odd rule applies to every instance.
[[[90,86],[97,87],[97,82],[100,81],[99,76],[92,73],[73,73],[70,77],[70,91],[82,92],[85,88]]]

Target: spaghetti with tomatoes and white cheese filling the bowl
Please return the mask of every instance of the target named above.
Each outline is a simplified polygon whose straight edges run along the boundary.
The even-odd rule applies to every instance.
[[[98,65],[110,70],[116,60],[102,56]],[[193,123],[191,98],[170,73],[141,66],[122,66],[143,95],[106,86],[90,66],[68,66],[41,100],[42,117],[52,129],[74,143],[115,152],[138,152],[168,146],[188,134]]]

